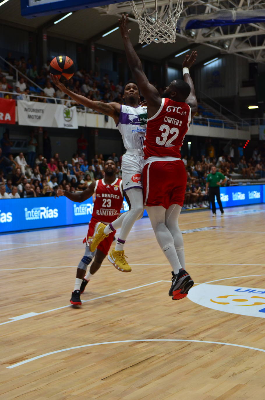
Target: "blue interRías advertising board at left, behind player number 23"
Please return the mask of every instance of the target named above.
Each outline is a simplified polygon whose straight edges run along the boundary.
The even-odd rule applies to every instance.
[[[123,202],[124,210],[129,209]],[[92,198],[75,203],[64,196],[10,199],[0,201],[0,233],[53,226],[86,224],[90,221],[94,204]],[[145,214],[147,212],[145,211]],[[84,235],[86,228],[84,228]]]

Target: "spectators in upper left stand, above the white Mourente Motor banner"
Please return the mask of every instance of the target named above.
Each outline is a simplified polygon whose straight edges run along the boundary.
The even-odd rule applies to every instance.
[[[23,56],[20,57],[20,60],[16,60],[12,57],[11,53],[8,53],[6,61],[19,71],[18,80],[16,81],[16,71],[12,67],[9,67],[6,71],[0,70],[0,92],[7,92],[0,93],[1,97],[44,103],[56,102],[68,107],[74,105],[81,106],[52,84],[49,74],[50,60],[46,61],[41,70],[38,70],[38,67],[32,63],[30,58],[26,61]],[[38,85],[39,88],[34,86],[30,80],[20,73]],[[7,75],[13,76],[13,84],[6,79]],[[65,85],[69,90],[77,94],[82,94],[90,100],[124,104],[124,100],[122,99],[123,82],[114,84],[108,74],[104,74],[100,78],[97,71],[90,70],[87,72],[84,69],[78,69],[74,73],[74,76],[65,82]],[[88,112],[94,112],[94,110],[88,109]]]

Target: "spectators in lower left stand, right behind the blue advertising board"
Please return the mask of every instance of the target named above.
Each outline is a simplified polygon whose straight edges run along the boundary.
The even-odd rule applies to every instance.
[[[12,141],[4,133],[0,141],[0,199],[54,196],[58,188],[70,192],[82,191],[94,180],[104,177],[102,154],[95,154],[92,160],[88,160],[86,152],[76,152],[71,160],[62,160],[58,153],[51,156],[48,139],[47,132],[44,132],[45,154],[36,156],[38,143],[31,132],[26,157],[23,152],[14,157],[10,153]],[[77,145],[79,150],[86,147],[83,135],[77,140]],[[50,155],[48,159],[47,154]],[[121,178],[121,157],[112,153],[108,158],[116,162],[116,176]]]

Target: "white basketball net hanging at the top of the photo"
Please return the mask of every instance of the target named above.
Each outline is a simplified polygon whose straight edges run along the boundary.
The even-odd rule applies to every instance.
[[[147,10],[145,1],[139,13],[134,1],[130,1],[130,6],[135,14],[140,28],[139,43],[174,43],[176,40],[177,20],[183,10],[183,0],[169,0],[165,8],[161,7],[159,12],[158,0],[155,0],[155,10]]]

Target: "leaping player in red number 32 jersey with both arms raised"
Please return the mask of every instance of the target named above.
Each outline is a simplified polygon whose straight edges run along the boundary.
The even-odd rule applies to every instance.
[[[144,204],[161,250],[172,266],[169,296],[179,300],[187,296],[193,280],[185,271],[183,238],[178,218],[184,202],[187,174],[180,148],[197,112],[197,99],[189,68],[197,52],[187,55],[182,64],[183,79],[167,86],[163,98],[149,83],[142,64],[129,39],[128,15],[119,20],[128,65],[147,101],[147,132],[144,142]]]

